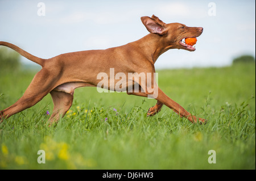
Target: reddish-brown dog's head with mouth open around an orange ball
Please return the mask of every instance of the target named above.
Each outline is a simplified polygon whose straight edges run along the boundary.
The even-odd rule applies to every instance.
[[[198,37],[203,32],[202,27],[187,27],[181,23],[166,24],[158,17],[141,17],[142,23],[150,33],[155,33],[163,37],[163,42],[166,44],[167,49],[177,48],[189,51],[195,51],[196,48],[192,45],[185,44],[184,39],[188,37]]]

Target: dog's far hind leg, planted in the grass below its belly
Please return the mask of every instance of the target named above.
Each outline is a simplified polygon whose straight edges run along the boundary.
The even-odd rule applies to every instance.
[[[67,92],[53,90],[50,92],[50,94],[52,96],[54,107],[52,115],[48,120],[49,126],[57,122],[60,117],[63,117],[72,106],[73,102],[73,95]]]

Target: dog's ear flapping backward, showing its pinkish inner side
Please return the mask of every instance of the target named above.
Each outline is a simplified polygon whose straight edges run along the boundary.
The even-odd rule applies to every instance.
[[[166,23],[162,22],[162,20],[160,20],[155,15],[152,15],[152,18],[148,16],[142,16],[141,21],[147,28],[147,31],[151,33],[155,33],[158,35],[164,35],[166,33]]]

